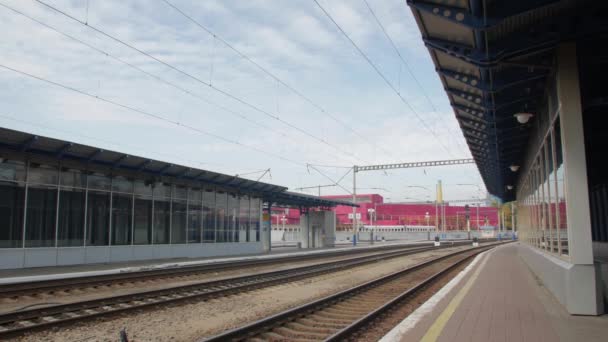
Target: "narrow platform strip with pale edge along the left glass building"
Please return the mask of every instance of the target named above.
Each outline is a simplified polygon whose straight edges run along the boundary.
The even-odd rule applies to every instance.
[[[172,259],[156,259],[156,260],[141,260],[127,261],[116,263],[103,264],[84,264],[84,265],[69,265],[69,266],[49,266],[49,267],[34,267],[34,268],[19,268],[0,270],[0,284],[11,284],[19,282],[43,281],[62,278],[78,278],[95,275],[108,275],[125,272],[136,272],[151,269],[176,268],[195,265],[205,265],[224,262],[239,262],[244,260],[281,258],[294,255],[310,255],[320,253],[340,253],[352,249],[377,249],[390,246],[415,246],[415,245],[432,245],[432,241],[391,241],[377,242],[374,244],[340,244],[335,247],[314,248],[314,249],[298,249],[293,247],[283,247],[272,249],[269,253],[264,254],[249,254],[227,257],[207,257],[207,258],[172,258]]]

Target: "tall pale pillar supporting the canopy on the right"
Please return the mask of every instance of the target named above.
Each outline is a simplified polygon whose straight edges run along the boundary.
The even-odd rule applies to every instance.
[[[560,45],[557,62],[557,95],[560,104],[564,192],[568,217],[568,254],[573,264],[593,265],[587,159],[576,44]]]

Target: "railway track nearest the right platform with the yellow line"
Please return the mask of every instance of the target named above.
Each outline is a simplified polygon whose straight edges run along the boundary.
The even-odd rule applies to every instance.
[[[492,248],[451,253],[317,301],[205,339],[216,341],[348,341],[383,313],[403,305],[433,282]]]

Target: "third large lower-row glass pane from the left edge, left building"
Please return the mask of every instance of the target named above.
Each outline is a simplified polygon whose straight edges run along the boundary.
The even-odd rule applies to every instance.
[[[61,188],[59,193],[58,246],[83,245],[85,200],[86,193],[84,190]]]

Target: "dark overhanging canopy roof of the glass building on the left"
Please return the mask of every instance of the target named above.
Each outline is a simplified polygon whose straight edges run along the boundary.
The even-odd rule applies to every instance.
[[[101,166],[116,171],[136,172],[142,178],[173,177],[221,186],[237,192],[252,193],[279,205],[295,207],[351,205],[350,202],[343,203],[343,201],[332,201],[315,196],[286,192],[287,188],[279,185],[256,182],[237,176],[132,156],[1,127],[0,149],[13,153],[68,160],[82,163],[85,166]]]

